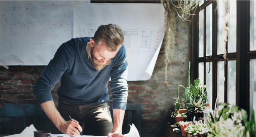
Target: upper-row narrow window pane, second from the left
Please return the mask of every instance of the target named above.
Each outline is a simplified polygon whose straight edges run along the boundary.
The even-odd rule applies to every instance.
[[[206,56],[212,55],[213,44],[213,4],[206,7]]]

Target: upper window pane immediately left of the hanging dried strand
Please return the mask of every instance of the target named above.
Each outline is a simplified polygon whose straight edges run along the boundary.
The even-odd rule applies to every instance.
[[[222,35],[224,30],[224,3],[218,1],[218,47],[217,54],[224,54],[224,36]]]

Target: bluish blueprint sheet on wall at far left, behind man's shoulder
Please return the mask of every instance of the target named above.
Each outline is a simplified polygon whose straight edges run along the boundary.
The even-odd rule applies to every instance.
[[[75,3],[0,1],[0,62],[47,65],[58,47],[73,38]]]

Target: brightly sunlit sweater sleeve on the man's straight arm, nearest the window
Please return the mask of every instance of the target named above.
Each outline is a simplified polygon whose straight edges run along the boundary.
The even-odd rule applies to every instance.
[[[128,96],[127,74],[128,63],[125,46],[123,45],[116,54],[116,61],[110,74],[113,109],[126,109]]]

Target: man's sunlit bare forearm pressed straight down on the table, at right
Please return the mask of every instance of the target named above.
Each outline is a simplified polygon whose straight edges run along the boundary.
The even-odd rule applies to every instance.
[[[125,110],[113,109],[114,125],[112,133],[118,132],[122,134],[122,125],[125,116]]]

